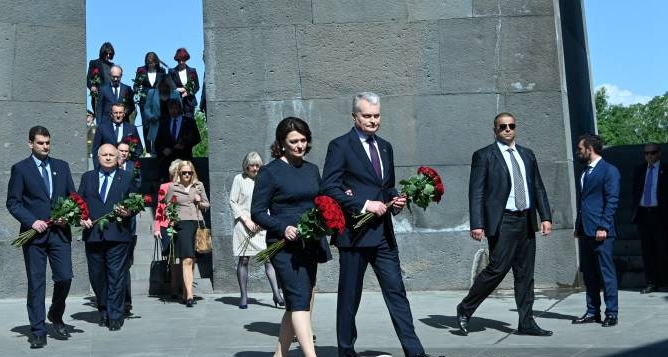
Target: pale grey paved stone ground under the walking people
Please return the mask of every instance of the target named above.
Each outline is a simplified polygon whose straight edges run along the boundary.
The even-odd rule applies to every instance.
[[[571,325],[584,312],[579,291],[540,291],[534,305],[536,321],[554,331],[552,337],[514,334],[517,313],[512,291],[487,299],[471,319],[468,336],[459,334],[455,306],[463,291],[411,292],[409,300],[418,336],[433,356],[552,357],[552,356],[668,356],[668,293],[640,295],[620,292],[620,323]],[[52,338],[30,350],[25,300],[0,300],[0,356],[236,356],[270,357],[283,311],[270,294],[254,294],[247,310],[237,307],[236,295],[201,296],[193,308],[158,298],[135,296],[134,315],[123,329],[110,332],[97,326],[90,299],[68,300],[65,323],[72,338]],[[48,305],[47,305],[48,306]],[[336,356],[336,295],[316,296],[314,332],[320,357]],[[365,292],[358,314],[357,351],[362,356],[402,356],[380,293]],[[290,356],[301,356],[294,344]]]

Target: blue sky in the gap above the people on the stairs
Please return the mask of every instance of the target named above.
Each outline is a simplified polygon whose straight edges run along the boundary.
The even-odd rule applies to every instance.
[[[147,52],[155,52],[169,68],[176,66],[179,47],[190,53],[188,66],[194,67],[203,83],[204,35],[202,2],[198,0],[98,0],[86,1],[86,58],[99,57],[100,46],[111,42],[113,62],[123,68],[121,82],[132,86],[137,67],[144,65]],[[158,5],[156,5],[158,4]],[[111,15],[112,12],[115,15]],[[88,61],[86,66],[88,66]],[[82,69],[86,73],[87,68]],[[197,93],[199,100],[201,90]],[[90,106],[90,101],[88,101]]]

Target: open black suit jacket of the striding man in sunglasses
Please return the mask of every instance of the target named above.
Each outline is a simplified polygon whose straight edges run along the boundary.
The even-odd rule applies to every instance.
[[[536,211],[541,221],[552,221],[552,213],[533,151],[520,145],[515,148],[524,161],[529,190],[530,235],[535,237],[538,230]],[[488,237],[499,234],[511,189],[510,175],[496,142],[473,153],[469,178],[471,229],[482,228]]]

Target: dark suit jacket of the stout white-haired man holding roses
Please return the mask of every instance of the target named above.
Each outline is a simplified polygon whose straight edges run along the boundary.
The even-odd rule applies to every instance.
[[[85,172],[81,176],[81,183],[79,184],[79,195],[88,204],[90,219],[93,221],[111,212],[114,205],[128,198],[130,193],[137,193],[138,191],[132,173],[120,169],[116,170],[111,187],[109,187],[109,193],[107,193],[106,202],[100,199],[98,170]],[[87,243],[102,241],[131,242],[133,234],[131,222],[132,217],[125,217],[120,221],[110,220],[110,223],[105,225],[103,230],[100,230],[98,223],[91,229],[85,229],[82,238]]]

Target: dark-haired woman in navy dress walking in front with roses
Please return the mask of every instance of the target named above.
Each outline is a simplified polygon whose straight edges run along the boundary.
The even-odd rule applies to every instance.
[[[306,357],[315,356],[310,320],[310,302],[318,262],[331,259],[329,247],[320,241],[302,240],[297,224],[302,213],[313,208],[320,191],[318,167],[304,160],[311,149],[311,130],[299,118],[283,119],[276,127],[271,146],[275,158],[260,168],[255,179],[251,219],[267,230],[267,246],[279,240],[286,245],[271,263],[283,287],[285,314],[281,321],[274,356],[286,357],[293,336]]]

